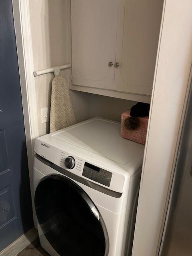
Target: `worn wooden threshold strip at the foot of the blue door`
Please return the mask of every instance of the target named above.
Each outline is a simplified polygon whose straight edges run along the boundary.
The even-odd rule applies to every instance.
[[[31,230],[20,236],[17,240],[15,240],[4,250],[2,250],[2,252],[0,252],[0,256],[16,256],[30,243],[32,243],[37,237],[37,230],[35,228],[32,228]]]

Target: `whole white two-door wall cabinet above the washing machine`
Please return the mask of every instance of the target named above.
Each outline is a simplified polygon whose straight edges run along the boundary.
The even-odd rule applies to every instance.
[[[163,0],[71,0],[72,84],[113,90],[109,96],[118,98],[149,97],[162,6]]]

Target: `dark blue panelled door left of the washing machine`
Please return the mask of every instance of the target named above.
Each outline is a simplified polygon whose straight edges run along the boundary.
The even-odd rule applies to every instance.
[[[0,0],[0,251],[32,227],[12,0]]]

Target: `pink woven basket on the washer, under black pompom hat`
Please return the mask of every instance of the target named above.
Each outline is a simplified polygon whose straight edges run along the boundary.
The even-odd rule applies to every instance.
[[[124,121],[128,117],[130,117],[130,111],[126,111],[121,115],[121,136],[125,139],[145,145],[149,117],[139,117],[140,126],[136,130],[128,130],[124,126]]]

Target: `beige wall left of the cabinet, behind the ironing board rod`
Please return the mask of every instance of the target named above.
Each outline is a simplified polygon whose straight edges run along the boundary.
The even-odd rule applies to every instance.
[[[68,63],[67,1],[30,0],[30,21],[34,70]],[[68,80],[68,71],[61,74]],[[42,124],[41,108],[50,107],[51,81],[53,74],[35,78],[39,134],[49,131],[49,123]]]

